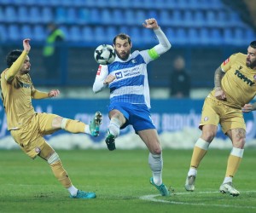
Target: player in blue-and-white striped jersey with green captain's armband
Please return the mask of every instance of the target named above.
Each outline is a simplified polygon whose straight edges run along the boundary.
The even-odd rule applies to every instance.
[[[97,93],[107,86],[110,89],[110,123],[105,140],[108,149],[115,149],[119,130],[131,124],[149,150],[148,164],[153,173],[150,183],[162,196],[169,196],[170,192],[162,182],[163,158],[159,135],[149,112],[147,65],[166,53],[171,48],[171,43],[155,19],[145,20],[143,26],[153,29],[159,44],[152,49],[134,51],[131,54],[131,38],[124,33],[114,37],[113,48],[117,56],[112,64],[99,66],[93,91]]]

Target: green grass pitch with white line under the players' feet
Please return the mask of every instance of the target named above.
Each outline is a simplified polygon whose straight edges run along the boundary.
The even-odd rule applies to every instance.
[[[255,151],[245,151],[236,198],[218,193],[230,150],[209,150],[194,193],[183,188],[192,150],[164,150],[163,181],[175,189],[169,198],[149,184],[147,150],[57,151],[73,185],[96,192],[96,199],[80,200],[68,198],[41,158],[0,150],[0,212],[256,212]]]

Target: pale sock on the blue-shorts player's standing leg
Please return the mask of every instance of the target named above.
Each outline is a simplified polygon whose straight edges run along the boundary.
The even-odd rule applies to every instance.
[[[163,158],[162,154],[148,155],[148,164],[152,170],[154,184],[160,186],[162,184],[162,169],[163,169]]]

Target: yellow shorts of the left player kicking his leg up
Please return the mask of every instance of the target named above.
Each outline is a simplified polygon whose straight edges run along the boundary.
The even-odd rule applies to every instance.
[[[36,158],[45,146],[44,135],[59,130],[52,128],[52,121],[57,116],[49,113],[36,113],[26,125],[19,130],[11,130],[10,133],[30,158]]]

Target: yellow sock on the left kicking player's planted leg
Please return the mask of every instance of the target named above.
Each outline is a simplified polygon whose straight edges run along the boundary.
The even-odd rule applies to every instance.
[[[64,170],[62,164],[61,164],[61,160],[53,163],[53,164],[49,164],[51,170],[53,171],[55,177],[58,179],[58,181],[61,182],[61,184],[66,187],[69,188],[72,186],[72,182],[69,179],[69,177],[67,176],[67,171]]]

